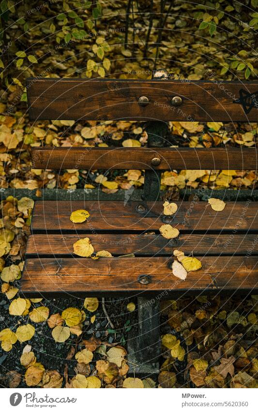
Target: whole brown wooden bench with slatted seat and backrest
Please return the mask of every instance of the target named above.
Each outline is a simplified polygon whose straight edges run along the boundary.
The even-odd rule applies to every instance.
[[[256,148],[171,148],[165,136],[168,120],[257,121],[258,83],[174,81],[162,69],[152,77],[28,79],[31,119],[148,120],[148,147],[32,148],[33,168],[144,169],[144,196],[138,202],[36,201],[21,280],[26,297],[138,297],[137,350],[145,363],[159,345],[161,296],[250,293],[258,283],[257,202],[227,202],[216,212],[207,202],[192,207],[190,201],[178,201],[176,214],[167,216],[159,198],[162,170],[257,170]],[[89,220],[71,222],[77,209],[88,210]],[[159,234],[165,223],[177,227],[178,238]],[[106,249],[114,257],[74,255],[73,244],[86,236],[95,251]],[[193,252],[202,268],[184,281],[173,276],[174,249]],[[120,257],[132,253],[134,258]]]

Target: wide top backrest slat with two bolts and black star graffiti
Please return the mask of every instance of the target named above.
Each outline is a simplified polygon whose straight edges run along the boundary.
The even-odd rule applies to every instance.
[[[257,82],[31,78],[27,94],[31,119],[258,120]],[[139,106],[141,96],[148,106]]]

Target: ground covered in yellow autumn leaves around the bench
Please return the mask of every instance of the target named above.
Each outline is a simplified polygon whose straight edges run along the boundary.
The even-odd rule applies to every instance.
[[[163,67],[176,79],[255,80],[257,6],[257,0],[130,1],[129,8],[124,0],[1,1],[1,188],[37,189],[40,198],[44,188],[99,187],[111,194],[141,187],[144,172],[137,170],[65,170],[60,175],[31,170],[33,146],[144,146],[147,133],[145,122],[32,123],[25,79],[150,79],[154,68]],[[166,145],[257,147],[257,131],[257,123],[169,122]],[[162,176],[162,189],[174,199],[179,189],[199,187],[255,189],[257,175],[252,170],[173,170]],[[125,345],[137,322],[136,301],[106,300],[113,330],[102,302],[91,312],[80,299],[19,298],[31,207],[13,198],[1,203],[2,386],[257,387],[257,296],[163,302],[160,374],[135,380],[126,380]],[[72,321],[68,308],[73,308],[68,311]]]

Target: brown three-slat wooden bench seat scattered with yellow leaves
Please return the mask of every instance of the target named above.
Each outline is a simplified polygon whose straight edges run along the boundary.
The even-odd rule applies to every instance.
[[[21,291],[25,297],[138,297],[257,289],[258,202],[227,202],[222,212],[207,202],[176,203],[178,211],[170,217],[160,201],[35,202]],[[89,211],[88,221],[70,220],[78,209]],[[176,239],[159,234],[167,223],[180,231]],[[84,237],[90,238],[94,252],[108,250],[114,257],[75,255],[73,244]],[[175,249],[193,252],[202,263],[184,281],[171,271]],[[120,257],[132,253],[135,257]]]

